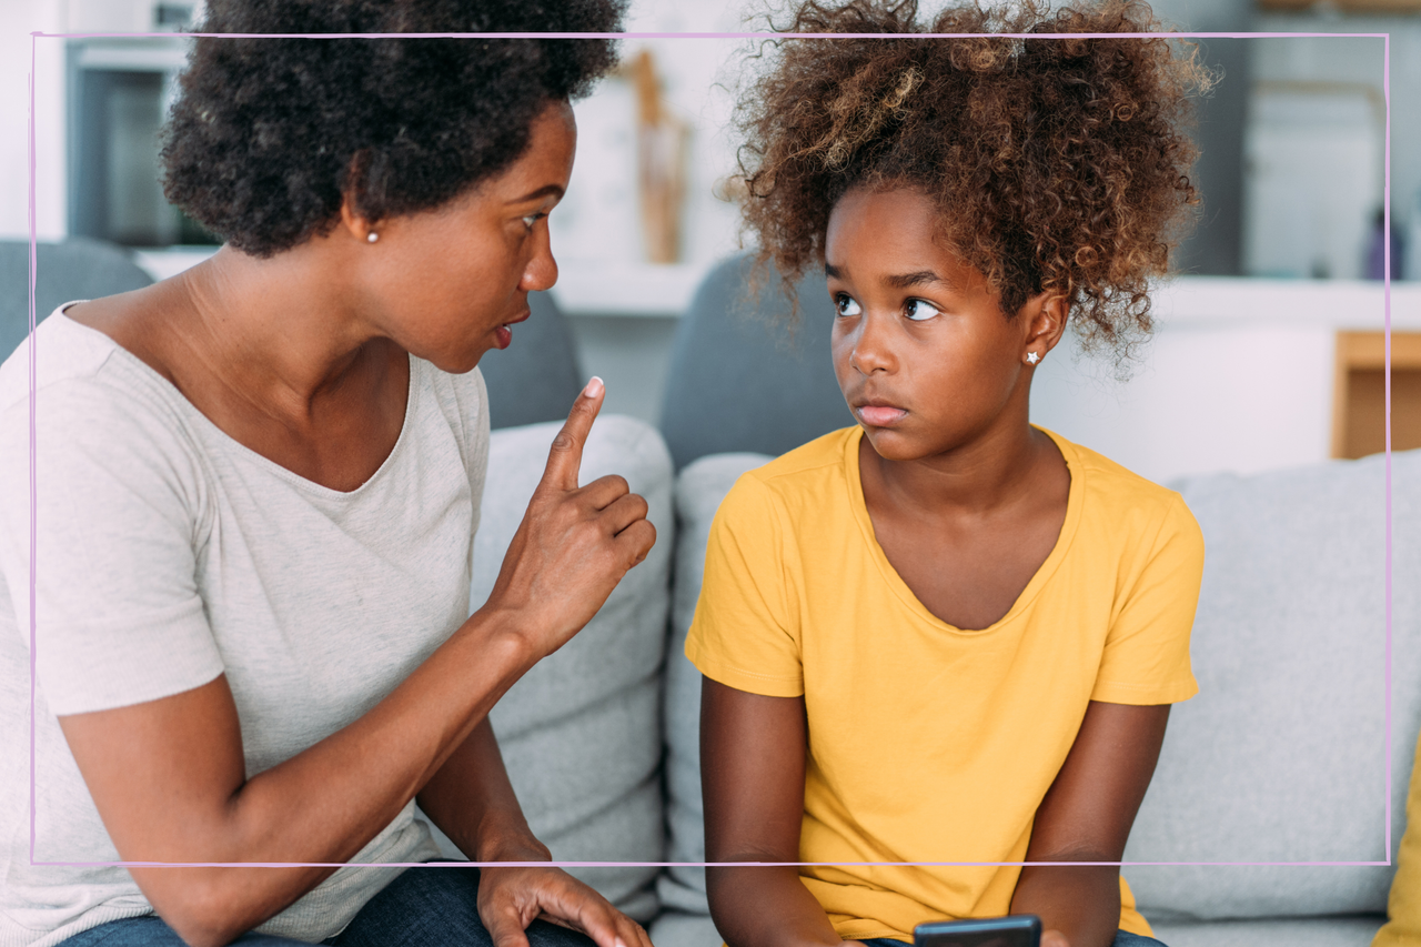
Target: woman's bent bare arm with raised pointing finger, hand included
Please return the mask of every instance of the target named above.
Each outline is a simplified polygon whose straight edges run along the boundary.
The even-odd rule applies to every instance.
[[[145,704],[60,718],[125,862],[317,862],[318,867],[134,867],[192,944],[225,944],[352,857],[445,765],[503,692],[601,607],[655,540],[621,478],[577,486],[601,402],[583,395],[487,604],[368,714],[246,779],[226,678]],[[598,937],[601,947],[612,938]]]

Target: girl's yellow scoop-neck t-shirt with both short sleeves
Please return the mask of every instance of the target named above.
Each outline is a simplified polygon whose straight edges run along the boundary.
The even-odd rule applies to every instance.
[[[804,695],[801,862],[1020,862],[1088,701],[1198,691],[1189,628],[1204,537],[1178,493],[1052,434],[1070,469],[1060,537],[1000,621],[963,631],[928,611],[878,546],[861,437],[828,434],[730,489],[686,657],[742,691]],[[1019,874],[800,869],[845,940],[1006,914]],[[1148,936],[1120,887],[1120,926]]]

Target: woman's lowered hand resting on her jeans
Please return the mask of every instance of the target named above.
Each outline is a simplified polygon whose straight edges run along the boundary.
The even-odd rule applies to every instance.
[[[479,917],[493,947],[529,947],[523,931],[534,920],[581,931],[597,947],[651,947],[641,924],[556,867],[482,869]]]

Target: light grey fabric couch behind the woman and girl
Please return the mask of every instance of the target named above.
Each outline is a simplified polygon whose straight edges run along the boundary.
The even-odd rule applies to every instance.
[[[557,424],[496,431],[477,536],[482,601]],[[672,476],[657,431],[598,419],[584,478],[620,472],[659,542],[603,611],[493,712],[533,828],[561,860],[702,862],[699,675],[681,647],[710,518],[767,458],[719,454]],[[1201,692],[1174,710],[1128,862],[1384,862],[1383,458],[1174,486],[1208,546],[1194,630]],[[1391,850],[1421,727],[1421,452],[1393,458]],[[669,630],[668,630],[669,619]],[[951,853],[942,853],[951,856]],[[580,869],[658,947],[713,947],[698,867]],[[1171,947],[1364,947],[1387,866],[1133,866]]]

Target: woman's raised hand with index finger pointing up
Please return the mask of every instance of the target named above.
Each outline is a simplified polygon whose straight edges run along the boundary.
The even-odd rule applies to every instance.
[[[577,485],[583,445],[604,394],[601,380],[593,378],[573,404],[480,609],[507,616],[534,658],[577,634],[657,542],[647,501],[632,493],[624,478]]]

